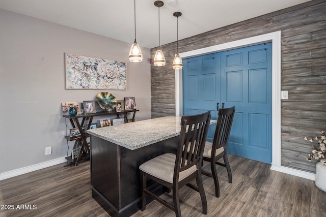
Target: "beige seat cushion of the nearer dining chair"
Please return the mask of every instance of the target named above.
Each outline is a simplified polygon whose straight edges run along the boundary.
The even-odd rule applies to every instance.
[[[159,179],[173,183],[175,159],[175,154],[165,153],[140,165],[139,169]],[[179,181],[186,178],[196,170],[196,165],[194,165],[191,168],[180,172]]]

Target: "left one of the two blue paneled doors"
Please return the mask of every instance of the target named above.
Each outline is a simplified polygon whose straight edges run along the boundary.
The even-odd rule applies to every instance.
[[[183,115],[210,111],[216,120],[216,102],[221,101],[220,53],[184,59],[182,72]],[[216,124],[209,126],[207,141],[213,141],[215,128]]]

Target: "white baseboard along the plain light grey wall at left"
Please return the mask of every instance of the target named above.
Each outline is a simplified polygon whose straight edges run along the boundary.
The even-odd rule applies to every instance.
[[[46,162],[43,162],[43,163],[40,163],[40,164],[35,164],[35,165],[28,166],[28,167],[19,168],[19,169],[16,169],[16,170],[11,170],[11,171],[8,171],[8,172],[1,173],[0,174],[0,180],[4,180],[4,179],[7,179],[7,178],[17,176],[17,175],[22,175],[22,174],[25,174],[25,173],[33,172],[33,171],[36,171],[36,170],[39,170],[39,169],[54,166],[54,165],[61,164],[61,163],[64,163],[64,162],[67,162],[67,161],[66,161],[65,157],[62,157],[62,158],[57,158],[57,159],[54,159],[54,160],[51,160],[51,161],[46,161]]]

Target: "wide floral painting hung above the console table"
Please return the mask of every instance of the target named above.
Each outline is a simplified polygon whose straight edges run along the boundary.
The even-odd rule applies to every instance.
[[[126,63],[66,53],[66,89],[126,90]]]

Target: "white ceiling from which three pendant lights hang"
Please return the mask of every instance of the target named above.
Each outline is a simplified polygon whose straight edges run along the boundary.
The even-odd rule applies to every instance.
[[[278,11],[310,0],[163,0],[160,45]],[[141,47],[158,46],[158,8],[154,0],[136,1],[136,38]],[[170,3],[178,2],[176,6]],[[0,0],[0,8],[132,44],[133,0]]]

